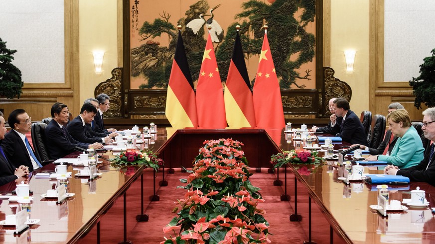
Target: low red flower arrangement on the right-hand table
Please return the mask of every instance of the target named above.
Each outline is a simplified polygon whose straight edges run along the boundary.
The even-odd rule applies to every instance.
[[[274,164],[274,168],[283,166],[284,164],[310,164],[321,163],[322,158],[317,157],[316,151],[309,150],[291,150],[284,151],[276,155],[272,155],[271,163]]]

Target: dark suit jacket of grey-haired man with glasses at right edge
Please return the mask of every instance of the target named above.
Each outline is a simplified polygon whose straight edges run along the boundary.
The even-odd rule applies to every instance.
[[[431,162],[429,162],[429,158],[431,157],[431,146],[432,145],[428,143],[425,151],[425,158],[422,162],[415,166],[401,169],[397,171],[396,175],[406,176],[411,181],[428,182],[435,186],[435,156],[433,156]],[[430,163],[430,165],[428,169],[426,169],[428,163]]]

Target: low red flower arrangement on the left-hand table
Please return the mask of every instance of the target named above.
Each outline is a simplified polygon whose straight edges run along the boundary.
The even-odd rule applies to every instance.
[[[138,149],[127,149],[122,151],[119,156],[111,160],[114,165],[138,165],[144,164],[146,167],[153,168],[155,171],[164,164],[163,160],[150,150],[140,151]]]

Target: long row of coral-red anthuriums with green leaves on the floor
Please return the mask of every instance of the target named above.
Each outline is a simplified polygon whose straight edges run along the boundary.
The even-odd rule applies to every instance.
[[[177,216],[163,228],[161,244],[270,243],[269,223],[259,203],[260,188],[249,181],[242,143],[232,139],[205,141],[187,179],[187,192],[178,199]]]

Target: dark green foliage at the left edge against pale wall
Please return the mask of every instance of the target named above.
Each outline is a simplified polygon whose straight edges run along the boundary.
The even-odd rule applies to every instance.
[[[6,48],[6,42],[0,38],[0,95],[12,99],[14,96],[20,97],[23,86],[21,81],[21,71],[11,64],[16,50]]]

